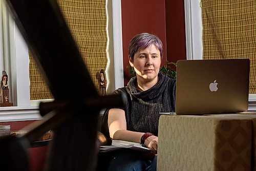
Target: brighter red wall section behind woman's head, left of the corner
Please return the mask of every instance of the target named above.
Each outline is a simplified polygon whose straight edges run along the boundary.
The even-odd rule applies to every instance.
[[[122,39],[124,84],[130,77],[128,50],[130,40],[139,33],[156,34],[163,42],[163,61],[166,61],[165,6],[164,0],[122,0]]]

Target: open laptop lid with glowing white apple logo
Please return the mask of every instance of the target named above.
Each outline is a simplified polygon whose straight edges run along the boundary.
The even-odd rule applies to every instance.
[[[176,114],[248,110],[249,59],[179,60]]]

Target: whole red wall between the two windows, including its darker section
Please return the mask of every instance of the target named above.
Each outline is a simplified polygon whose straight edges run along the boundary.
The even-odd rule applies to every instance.
[[[130,77],[128,48],[139,33],[156,34],[163,42],[162,64],[186,59],[184,1],[122,0],[124,85]]]

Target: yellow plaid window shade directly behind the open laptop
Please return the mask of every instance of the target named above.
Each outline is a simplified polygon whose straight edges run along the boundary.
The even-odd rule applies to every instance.
[[[249,93],[255,94],[256,1],[201,0],[201,7],[203,58],[249,58]]]

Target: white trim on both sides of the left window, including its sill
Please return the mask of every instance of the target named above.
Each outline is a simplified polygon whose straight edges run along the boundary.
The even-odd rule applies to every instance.
[[[11,101],[14,106],[0,108],[0,121],[20,121],[20,120],[36,120],[41,119],[38,112],[38,102],[42,100],[30,100],[29,90],[29,55],[28,47],[17,29],[12,15],[8,13],[5,6],[5,1],[1,1],[0,15],[4,26],[0,25],[0,53],[1,55],[0,71],[5,70],[9,76],[8,83],[10,87]],[[113,92],[115,89],[123,87],[122,76],[122,33],[121,33],[121,1],[109,0],[106,1],[106,9],[108,13],[108,66],[106,76],[108,79],[108,92]],[[0,18],[0,19],[1,19]],[[1,22],[0,22],[1,23]],[[7,37],[7,38],[4,38]],[[113,48],[115,47],[115,48]],[[7,49],[7,50],[6,50]],[[8,54],[8,55],[7,55]]]

